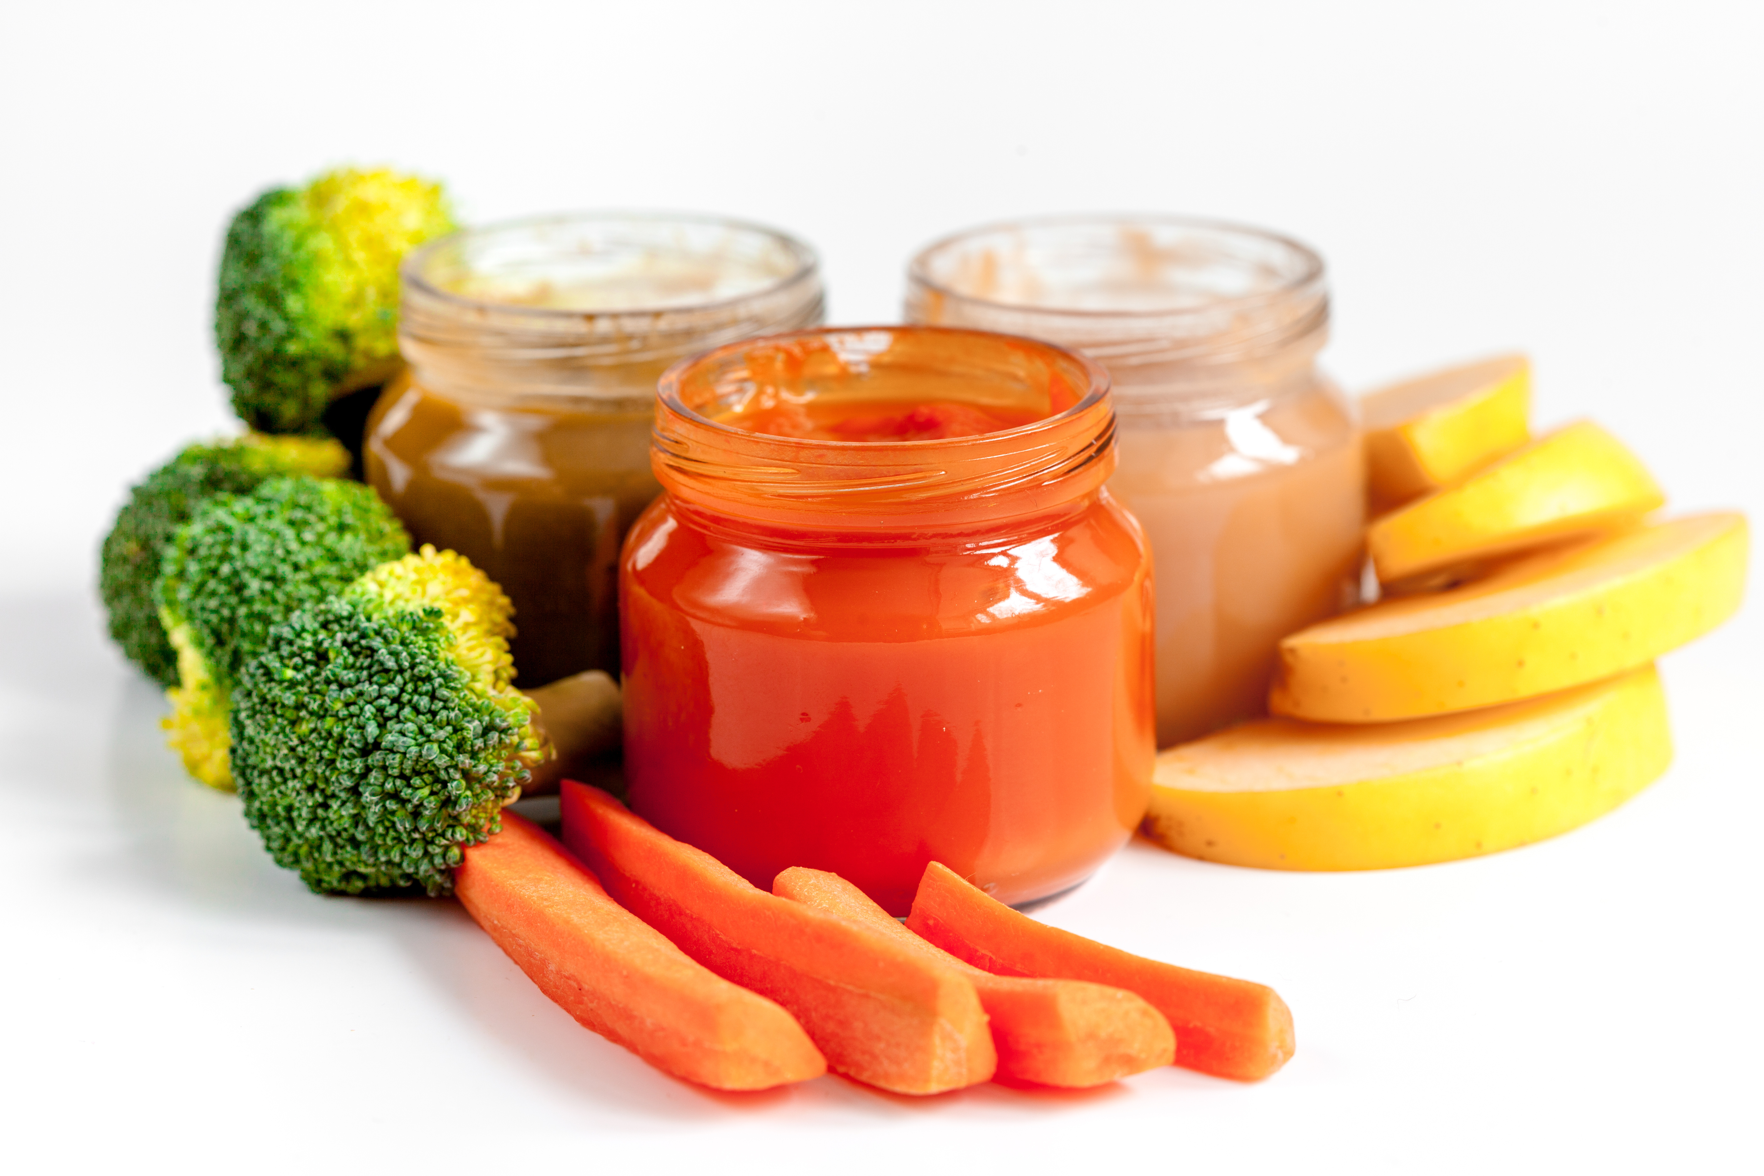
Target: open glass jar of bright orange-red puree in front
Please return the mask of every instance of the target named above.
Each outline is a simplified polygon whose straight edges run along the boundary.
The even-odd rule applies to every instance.
[[[1081,882],[1154,753],[1113,465],[1108,376],[1043,342],[824,330],[674,367],[619,578],[632,808],[896,915],[931,860],[1005,903]]]

